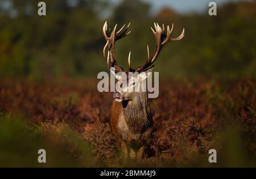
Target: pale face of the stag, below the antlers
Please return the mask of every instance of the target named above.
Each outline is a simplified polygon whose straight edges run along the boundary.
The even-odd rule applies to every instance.
[[[146,78],[150,76],[151,71],[152,68],[143,73],[115,75],[118,80],[116,91],[113,94],[115,101],[131,101],[138,95],[138,92],[146,92]]]

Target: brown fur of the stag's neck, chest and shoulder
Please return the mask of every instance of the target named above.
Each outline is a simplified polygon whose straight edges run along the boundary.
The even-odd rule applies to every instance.
[[[110,126],[112,131],[126,143],[135,142],[142,145],[152,127],[147,92],[137,92],[130,101],[113,101]]]

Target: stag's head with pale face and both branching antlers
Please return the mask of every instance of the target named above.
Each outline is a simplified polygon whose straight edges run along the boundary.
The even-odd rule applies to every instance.
[[[150,74],[149,72],[151,72],[154,67],[153,63],[156,61],[156,58],[158,58],[163,46],[170,41],[179,41],[184,37],[184,28],[181,35],[173,39],[171,38],[171,34],[174,28],[174,24],[172,24],[171,29],[169,25],[167,25],[167,31],[166,31],[166,29],[164,28],[164,24],[162,27],[160,27],[158,23],[154,23],[155,30],[151,27],[151,30],[155,36],[155,42],[156,42],[154,54],[152,55],[152,57],[150,57],[150,52],[147,46],[146,63],[144,63],[144,65],[142,66],[138,66],[137,69],[133,69],[131,67],[131,61],[130,61],[131,52],[130,52],[128,57],[129,71],[125,72],[123,67],[119,65],[115,59],[114,44],[115,44],[115,41],[129,35],[129,33],[131,32],[131,31],[128,31],[129,25],[130,23],[127,26],[123,25],[123,27],[121,27],[117,31],[117,24],[116,24],[113,31],[111,32],[110,29],[108,30],[107,22],[105,22],[102,29],[103,35],[106,40],[106,45],[104,46],[103,54],[104,54],[104,57],[106,58],[110,71],[114,73],[115,78],[119,80],[118,84],[120,84],[120,87],[121,87],[121,90],[115,91],[113,95],[114,99],[119,102],[126,101],[126,100],[133,100],[134,97],[137,95],[137,92],[141,92],[140,84],[149,76]],[[108,55],[106,55],[106,49],[108,49]],[[123,74],[126,74],[126,75],[123,75]],[[122,86],[123,84],[125,84],[125,86]],[[136,91],[135,89],[139,89],[139,90]]]

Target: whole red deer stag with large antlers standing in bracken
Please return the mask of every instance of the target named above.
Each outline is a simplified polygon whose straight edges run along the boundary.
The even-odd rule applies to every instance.
[[[130,23],[129,23],[130,25]],[[122,81],[122,76],[118,75],[119,72],[124,72],[123,67],[120,66],[114,56],[114,45],[115,41],[122,39],[129,35],[131,31],[128,31],[129,25],[123,25],[121,29],[117,31],[117,25],[115,25],[112,32],[108,30],[107,22],[103,26],[103,35],[106,40],[106,45],[104,46],[104,57],[108,63],[109,68],[114,67],[112,71],[115,78]],[[144,142],[145,139],[150,135],[152,128],[152,115],[150,111],[150,104],[148,103],[148,93],[140,90],[135,92],[134,90],[125,90],[125,88],[135,88],[135,81],[145,80],[148,77],[148,72],[152,71],[154,65],[152,65],[156,58],[159,56],[160,51],[163,46],[170,41],[179,41],[184,37],[184,28],[181,35],[175,39],[171,38],[172,29],[174,24],[170,29],[167,26],[167,31],[157,24],[155,25],[155,31],[151,28],[155,36],[156,47],[153,56],[150,58],[150,53],[147,46],[147,61],[144,65],[139,66],[137,69],[131,68],[130,54],[128,57],[129,71],[126,72],[137,72],[137,76],[126,75],[126,80],[128,81],[127,87],[122,87],[122,91],[114,92],[114,101],[112,104],[112,109],[110,112],[110,126],[114,134],[121,139],[121,148],[124,154],[130,156],[131,158],[137,157],[141,159],[144,154]],[[107,50],[108,49],[108,50]],[[106,53],[106,51],[108,53]],[[144,72],[144,73],[142,73]],[[118,73],[118,74],[117,74]],[[138,84],[138,83],[136,83]]]

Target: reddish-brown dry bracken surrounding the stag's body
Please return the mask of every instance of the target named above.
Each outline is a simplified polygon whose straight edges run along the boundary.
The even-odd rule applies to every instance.
[[[82,167],[210,167],[210,148],[218,151],[214,166],[255,166],[255,80],[228,86],[162,82],[159,97],[151,100],[154,133],[148,139],[146,159],[129,164],[118,155],[109,128],[112,93],[97,92],[96,83],[2,80],[1,113],[22,114],[24,121],[40,129],[43,136],[68,143],[69,160],[84,160],[78,165]],[[74,143],[73,136],[60,133],[63,129],[75,131],[79,140]],[[92,152],[86,160],[93,157],[93,164],[85,164],[82,141]]]

